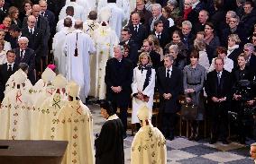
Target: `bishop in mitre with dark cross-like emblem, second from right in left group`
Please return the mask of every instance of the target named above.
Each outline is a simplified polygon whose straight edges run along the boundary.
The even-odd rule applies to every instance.
[[[39,140],[53,140],[58,123],[60,108],[67,104],[66,84],[67,80],[62,74],[58,74],[52,81],[55,88],[52,96],[45,99],[40,108],[38,117],[39,126],[33,131],[37,131]]]

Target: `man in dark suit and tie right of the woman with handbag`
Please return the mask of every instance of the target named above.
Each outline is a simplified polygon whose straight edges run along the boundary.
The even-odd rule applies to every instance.
[[[228,144],[228,106],[232,99],[231,73],[224,70],[224,60],[215,58],[215,70],[207,74],[206,94],[208,99],[209,117],[212,138],[210,144],[218,141],[218,136],[224,144]]]

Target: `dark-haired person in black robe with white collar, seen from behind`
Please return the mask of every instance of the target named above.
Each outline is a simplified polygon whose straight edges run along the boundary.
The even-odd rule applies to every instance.
[[[100,108],[106,122],[95,141],[96,164],[124,164],[122,121],[114,114],[110,101],[103,100]]]

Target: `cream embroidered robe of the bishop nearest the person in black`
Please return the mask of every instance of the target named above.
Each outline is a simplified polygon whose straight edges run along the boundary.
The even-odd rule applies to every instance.
[[[92,115],[81,100],[68,101],[59,110],[55,140],[68,141],[62,164],[95,163]]]

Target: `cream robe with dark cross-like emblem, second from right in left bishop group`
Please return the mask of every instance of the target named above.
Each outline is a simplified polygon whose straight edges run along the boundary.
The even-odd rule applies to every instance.
[[[67,96],[62,91],[59,91],[59,93],[54,91],[50,98],[44,100],[38,115],[39,127],[37,129],[40,130],[37,131],[37,139],[54,140],[59,110],[67,102]]]

